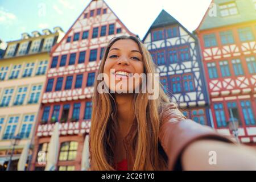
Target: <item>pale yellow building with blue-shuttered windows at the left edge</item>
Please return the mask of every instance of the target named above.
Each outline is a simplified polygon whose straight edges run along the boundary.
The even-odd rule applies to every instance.
[[[30,142],[46,82],[49,51],[64,36],[61,28],[22,34],[7,43],[0,60],[0,170],[6,170],[14,147],[10,170],[15,170],[23,147]]]

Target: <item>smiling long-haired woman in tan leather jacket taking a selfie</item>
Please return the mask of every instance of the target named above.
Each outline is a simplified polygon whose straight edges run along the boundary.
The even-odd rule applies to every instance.
[[[242,169],[256,169],[256,163],[251,162],[256,160],[255,151],[238,147],[210,127],[186,119],[159,81],[146,79],[147,86],[152,84],[159,89],[159,97],[154,100],[149,99],[148,92],[116,90],[116,85],[127,80],[130,82],[122,84],[122,89],[132,86],[141,90],[142,81],[136,81],[134,75],[152,74],[154,78],[155,70],[150,53],[135,37],[114,38],[106,47],[98,75],[105,75],[108,92],[98,92],[100,79],[94,85],[92,170],[236,169],[234,163],[243,163]],[[213,167],[208,163],[210,151],[225,160]]]

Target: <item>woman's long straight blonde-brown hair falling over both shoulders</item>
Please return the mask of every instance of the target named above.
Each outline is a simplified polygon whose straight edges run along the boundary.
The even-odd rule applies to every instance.
[[[144,44],[133,36],[119,36],[110,40],[105,48],[105,53],[100,65],[98,74],[103,73],[104,64],[108,57],[110,48],[115,42],[123,39],[131,39],[138,44],[142,53],[144,72],[151,73],[154,78],[156,65],[152,61],[150,52],[144,47]],[[90,127],[90,158],[92,170],[115,170],[114,152],[117,141],[115,131],[117,123],[111,117],[112,113],[117,111],[117,105],[112,94],[98,93],[97,87],[100,80],[95,81],[94,95],[92,104],[92,123]],[[160,84],[160,82],[159,82]],[[164,93],[162,85],[159,85],[159,97],[156,100],[148,100],[148,93],[134,94],[134,111],[137,119],[137,130],[131,140],[134,154],[135,171],[162,170],[167,167],[166,155],[159,152],[159,130],[163,120],[164,106],[172,105],[174,110],[168,110],[167,117],[175,115],[176,118],[183,119],[184,116],[177,109],[176,105],[170,101],[170,98]],[[166,116],[165,116],[166,117]]]

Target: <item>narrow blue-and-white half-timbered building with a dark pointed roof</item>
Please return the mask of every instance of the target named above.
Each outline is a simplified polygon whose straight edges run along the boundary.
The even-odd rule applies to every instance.
[[[186,117],[212,126],[207,86],[195,36],[162,10],[143,42],[158,67],[164,91]]]

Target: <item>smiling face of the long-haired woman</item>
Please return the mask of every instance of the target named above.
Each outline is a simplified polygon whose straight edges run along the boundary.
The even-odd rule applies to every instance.
[[[133,74],[144,73],[142,58],[139,46],[133,40],[115,42],[109,49],[104,65],[104,73],[108,76],[108,81],[105,78],[105,83],[108,88],[115,93],[134,91],[141,84],[141,79],[134,81],[136,78]]]

